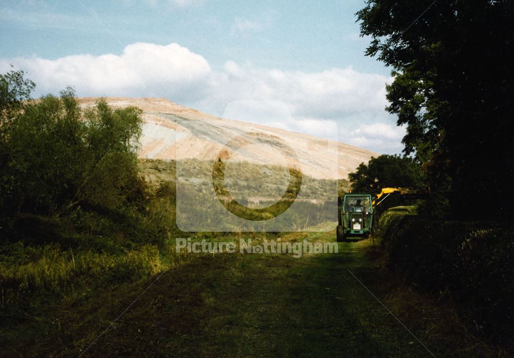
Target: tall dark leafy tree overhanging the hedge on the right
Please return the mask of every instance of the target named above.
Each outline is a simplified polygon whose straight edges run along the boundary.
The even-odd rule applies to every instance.
[[[457,217],[514,214],[513,8],[508,0],[369,0],[357,13],[361,35],[372,36],[366,55],[394,68],[387,110],[406,125],[405,153],[423,163],[431,192]]]

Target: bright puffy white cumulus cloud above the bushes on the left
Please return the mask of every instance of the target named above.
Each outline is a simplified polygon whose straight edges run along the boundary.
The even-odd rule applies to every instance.
[[[75,86],[79,96],[165,96],[198,98],[211,67],[202,56],[178,44],[135,43],[121,55],[71,55],[57,60],[15,58],[0,60],[27,72],[40,93]]]

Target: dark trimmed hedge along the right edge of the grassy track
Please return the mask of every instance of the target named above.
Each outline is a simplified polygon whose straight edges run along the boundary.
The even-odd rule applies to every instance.
[[[449,293],[475,333],[511,346],[514,229],[491,222],[434,220],[412,211],[386,213],[379,235],[389,266],[415,286]]]

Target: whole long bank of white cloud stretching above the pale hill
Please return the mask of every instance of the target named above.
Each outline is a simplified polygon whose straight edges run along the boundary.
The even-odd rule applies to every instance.
[[[286,113],[283,107],[271,106],[262,112],[266,114],[262,120],[245,118],[243,111],[227,117],[339,138],[380,153],[399,153],[405,134],[384,111],[385,85],[392,79],[351,67],[307,73],[227,61],[214,71],[203,56],[175,43],[135,43],[121,54],[79,54],[56,60],[0,59],[0,72],[8,71],[10,63],[27,72],[37,85],[37,95],[58,93],[71,85],[81,97],[166,97],[215,116],[222,116],[233,101],[282,103],[287,116],[281,115]]]

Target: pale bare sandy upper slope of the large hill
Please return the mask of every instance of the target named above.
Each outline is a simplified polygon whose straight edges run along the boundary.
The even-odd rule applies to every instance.
[[[95,104],[96,98],[82,98],[79,101],[82,107],[89,107]],[[113,107],[136,106],[144,111],[141,158],[215,160],[226,150],[227,142],[245,133],[251,133],[254,138],[262,134],[263,140],[249,143],[232,153],[231,160],[284,163],[288,158],[284,158],[280,148],[285,144],[296,153],[303,173],[313,178],[346,179],[348,173],[360,163],[367,163],[372,156],[378,156],[370,150],[352,145],[213,117],[163,98],[106,98],[106,101]],[[277,142],[269,141],[269,138],[277,138]]]

